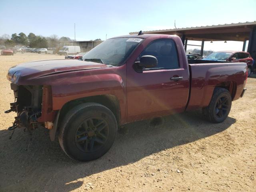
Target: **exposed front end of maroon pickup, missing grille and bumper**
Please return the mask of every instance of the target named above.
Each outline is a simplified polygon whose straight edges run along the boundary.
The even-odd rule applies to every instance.
[[[16,112],[13,126],[25,128],[31,133],[38,127],[53,128],[53,119],[56,112],[52,110],[52,91],[50,86],[25,86],[11,83],[14,91],[14,102],[10,103],[10,110],[5,113]]]

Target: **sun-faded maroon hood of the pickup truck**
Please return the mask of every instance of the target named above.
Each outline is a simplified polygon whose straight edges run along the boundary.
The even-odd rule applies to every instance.
[[[28,80],[60,72],[108,68],[105,64],[81,60],[41,60],[26,62],[9,69],[7,79],[18,84],[20,78]]]

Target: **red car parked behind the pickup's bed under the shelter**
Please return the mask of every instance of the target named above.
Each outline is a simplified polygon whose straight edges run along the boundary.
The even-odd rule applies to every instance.
[[[245,62],[248,67],[248,77],[252,74],[253,59],[250,53],[243,51],[217,51],[208,55],[203,60]]]

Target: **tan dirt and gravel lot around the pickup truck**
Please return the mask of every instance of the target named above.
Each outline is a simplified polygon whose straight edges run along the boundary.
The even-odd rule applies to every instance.
[[[102,158],[76,162],[51,142],[47,130],[7,130],[14,101],[6,74],[11,66],[46,54],[0,56],[0,191],[256,191],[256,78],[232,103],[229,117],[211,124],[200,110],[168,116],[160,126],[128,124]]]

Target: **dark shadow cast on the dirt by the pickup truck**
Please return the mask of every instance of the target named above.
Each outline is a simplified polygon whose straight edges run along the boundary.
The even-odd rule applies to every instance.
[[[125,166],[162,150],[194,142],[218,134],[236,122],[228,117],[221,124],[202,119],[199,110],[163,118],[162,125],[150,126],[149,121],[127,124],[118,131],[110,151],[91,162],[77,162],[68,158],[58,141],[51,142],[48,131],[28,134],[16,130],[0,131],[0,189],[3,191],[71,191],[86,185],[80,178],[112,168]],[[84,183],[86,182],[86,183]],[[23,189],[23,190],[22,190]]]

